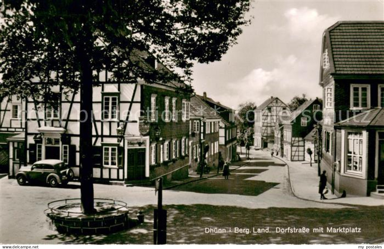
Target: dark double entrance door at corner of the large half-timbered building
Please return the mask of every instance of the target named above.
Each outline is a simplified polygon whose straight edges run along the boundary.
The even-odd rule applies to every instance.
[[[127,149],[127,180],[145,178],[145,148]]]

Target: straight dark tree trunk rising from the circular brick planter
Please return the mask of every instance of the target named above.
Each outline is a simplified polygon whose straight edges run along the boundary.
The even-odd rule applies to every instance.
[[[79,49],[81,50],[81,48]],[[92,155],[92,68],[86,50],[79,51],[81,66],[80,87],[80,183],[81,211],[95,212],[93,206]]]

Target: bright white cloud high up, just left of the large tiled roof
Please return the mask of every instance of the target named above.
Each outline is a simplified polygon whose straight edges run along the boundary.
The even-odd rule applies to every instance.
[[[318,42],[326,28],[339,20],[339,17],[320,15],[316,9],[308,7],[290,8],[284,13],[286,22],[282,26],[271,26],[292,40],[300,42]]]

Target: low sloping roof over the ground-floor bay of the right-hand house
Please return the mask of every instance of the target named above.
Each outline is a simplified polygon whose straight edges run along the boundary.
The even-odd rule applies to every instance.
[[[379,127],[384,126],[384,108],[373,108],[364,111],[346,120],[336,123],[335,126],[353,127]]]

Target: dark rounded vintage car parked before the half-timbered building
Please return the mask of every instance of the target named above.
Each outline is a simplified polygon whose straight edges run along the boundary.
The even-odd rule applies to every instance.
[[[44,182],[56,187],[59,183],[67,184],[73,176],[73,170],[63,161],[49,159],[37,161],[32,166],[21,167],[16,179],[19,185],[25,185],[27,182]]]

